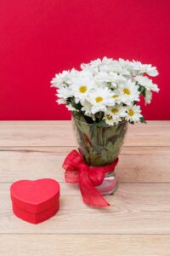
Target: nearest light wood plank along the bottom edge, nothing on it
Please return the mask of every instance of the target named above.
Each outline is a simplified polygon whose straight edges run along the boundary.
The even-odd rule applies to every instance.
[[[170,236],[0,235],[3,256],[169,256]]]

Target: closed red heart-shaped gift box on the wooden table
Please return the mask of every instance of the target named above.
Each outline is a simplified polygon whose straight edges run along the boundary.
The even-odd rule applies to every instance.
[[[59,210],[59,183],[42,178],[20,180],[10,187],[14,214],[27,222],[38,224]]]

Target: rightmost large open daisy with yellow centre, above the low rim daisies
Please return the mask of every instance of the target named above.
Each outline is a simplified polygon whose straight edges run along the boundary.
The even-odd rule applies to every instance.
[[[139,102],[139,86],[132,80],[127,80],[127,83],[120,85],[119,98],[122,103],[130,105],[133,102]]]

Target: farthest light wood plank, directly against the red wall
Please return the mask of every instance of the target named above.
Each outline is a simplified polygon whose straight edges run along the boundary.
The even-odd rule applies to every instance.
[[[0,146],[75,147],[71,121],[1,121]],[[170,121],[129,125],[127,146],[170,146]]]

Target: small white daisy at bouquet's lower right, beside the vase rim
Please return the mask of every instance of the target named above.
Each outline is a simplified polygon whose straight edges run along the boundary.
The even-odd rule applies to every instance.
[[[130,122],[139,122],[139,119],[142,117],[141,109],[139,106],[131,105],[127,107],[127,116],[125,119]]]

